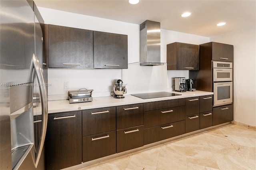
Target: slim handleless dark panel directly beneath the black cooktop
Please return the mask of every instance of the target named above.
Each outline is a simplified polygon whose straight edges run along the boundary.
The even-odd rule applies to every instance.
[[[167,109],[170,107],[178,107],[184,106],[185,99],[173,99],[173,100],[165,100],[165,101],[154,101],[144,103],[144,112],[146,111],[154,111],[159,109]]]

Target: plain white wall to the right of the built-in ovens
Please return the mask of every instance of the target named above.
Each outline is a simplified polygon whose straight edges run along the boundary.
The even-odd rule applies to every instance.
[[[256,28],[210,38],[234,45],[234,121],[256,126]]]

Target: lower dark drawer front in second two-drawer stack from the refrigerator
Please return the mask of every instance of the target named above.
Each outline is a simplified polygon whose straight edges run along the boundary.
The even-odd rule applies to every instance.
[[[116,153],[143,146],[142,126],[116,130]]]

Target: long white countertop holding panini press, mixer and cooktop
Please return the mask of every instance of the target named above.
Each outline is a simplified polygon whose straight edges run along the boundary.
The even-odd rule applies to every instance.
[[[213,95],[212,92],[207,91],[186,91],[186,92],[176,92],[176,91],[168,91],[170,93],[181,94],[179,96],[171,96],[171,97],[159,97],[153,99],[141,99],[139,97],[135,97],[132,95],[124,95],[123,99],[116,99],[112,96],[107,97],[94,97],[92,102],[84,102],[84,103],[69,103],[68,100],[56,100],[56,101],[48,101],[48,113],[59,113],[59,112],[67,112],[67,111],[78,111],[78,110],[86,110],[86,109],[96,109],[102,107],[112,107],[112,106],[120,106],[120,105],[131,105],[136,103],[146,103],[152,101],[163,101],[170,99],[180,99],[187,97],[196,97],[196,96],[204,96],[204,95]]]

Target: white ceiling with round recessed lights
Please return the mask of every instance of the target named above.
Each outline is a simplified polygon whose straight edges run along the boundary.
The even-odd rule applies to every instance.
[[[36,5],[141,24],[145,20],[161,23],[161,28],[212,37],[243,28],[256,28],[256,0],[34,0]],[[183,12],[191,16],[182,18]],[[219,22],[226,25],[218,27]]]

